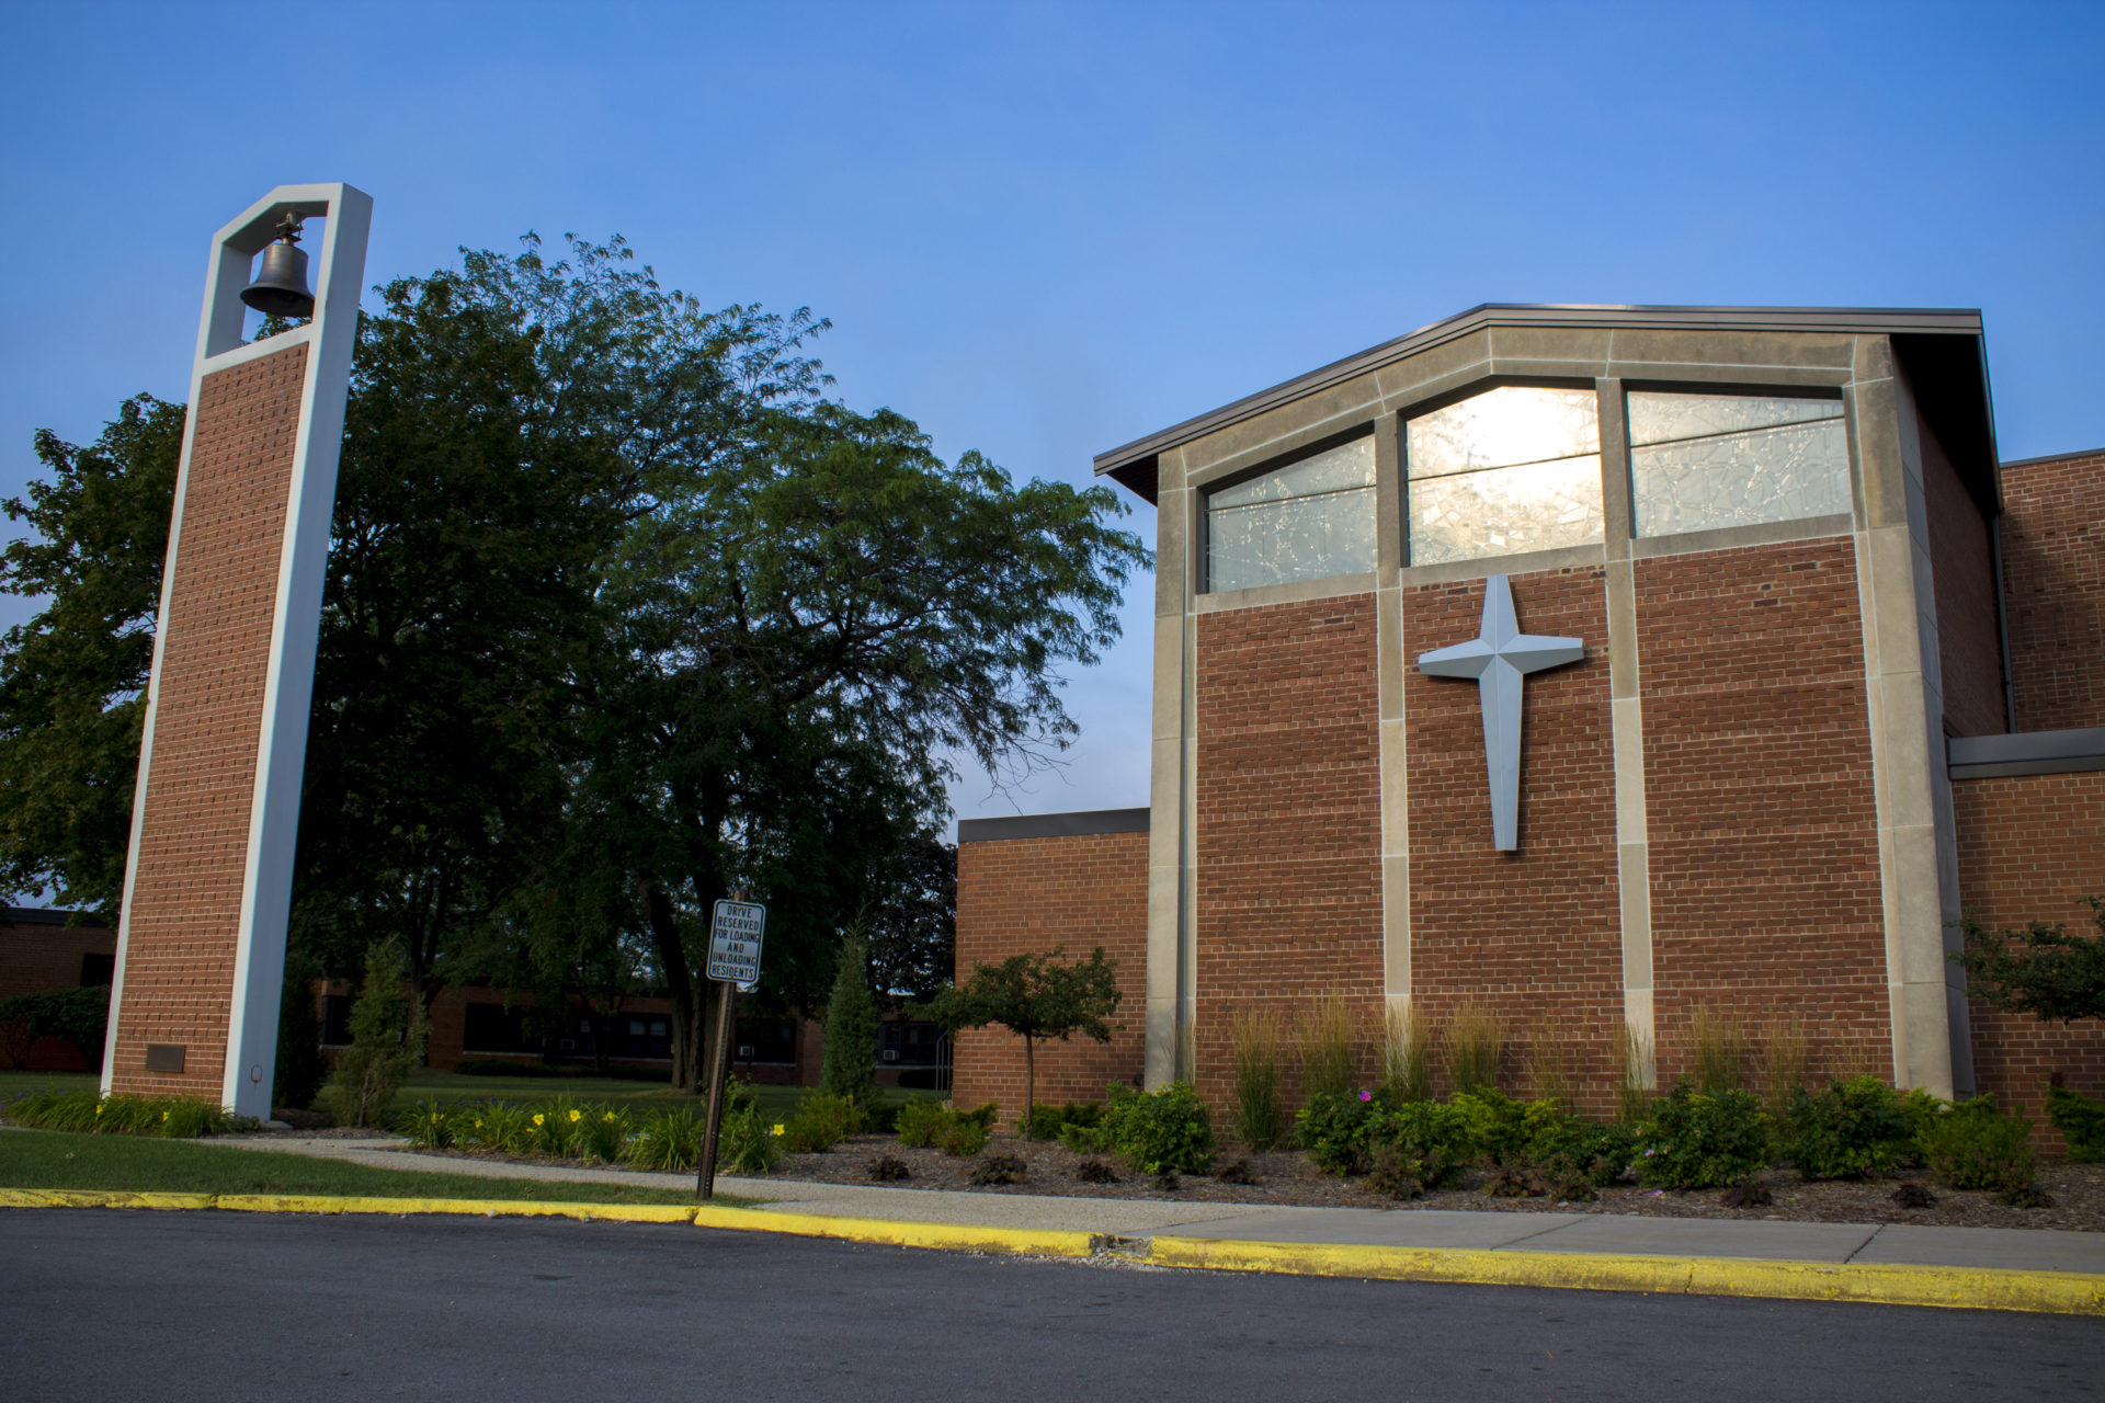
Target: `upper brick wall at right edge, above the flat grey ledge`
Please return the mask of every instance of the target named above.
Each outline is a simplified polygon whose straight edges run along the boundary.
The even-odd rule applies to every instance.
[[[2105,726],[2105,450],[2002,469],[2012,730]]]

